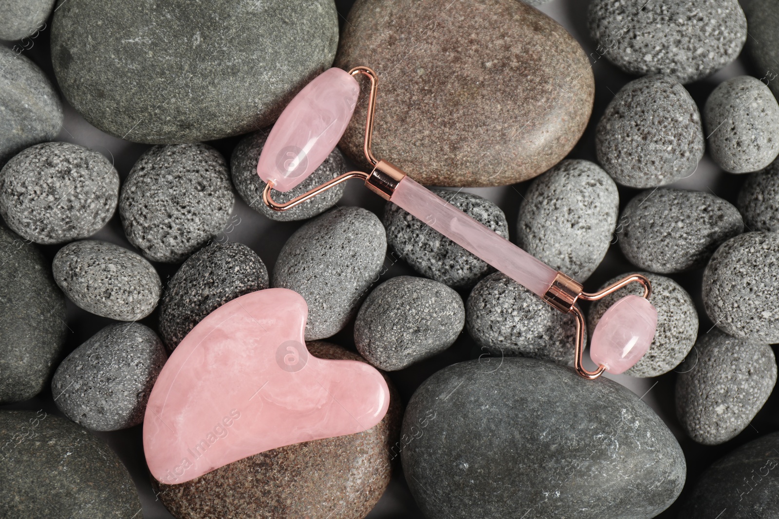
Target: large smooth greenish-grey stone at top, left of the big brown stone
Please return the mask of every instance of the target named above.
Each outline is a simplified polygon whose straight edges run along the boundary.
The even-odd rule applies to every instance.
[[[269,125],[330,67],[337,44],[330,0],[146,9],[69,0],[55,12],[51,61],[65,97],[97,128],[171,144]]]

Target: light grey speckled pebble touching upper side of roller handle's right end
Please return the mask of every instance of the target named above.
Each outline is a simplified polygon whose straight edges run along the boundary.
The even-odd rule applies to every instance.
[[[612,177],[588,160],[563,160],[530,184],[520,205],[516,243],[583,282],[606,255],[618,213]]]

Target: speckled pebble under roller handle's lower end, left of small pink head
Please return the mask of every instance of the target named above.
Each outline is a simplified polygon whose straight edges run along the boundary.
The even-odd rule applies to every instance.
[[[502,272],[478,282],[465,304],[468,333],[492,356],[573,361],[576,321]]]

